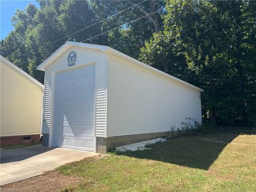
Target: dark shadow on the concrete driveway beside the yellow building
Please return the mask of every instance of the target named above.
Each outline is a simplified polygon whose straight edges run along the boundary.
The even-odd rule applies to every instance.
[[[43,147],[42,144],[15,148],[15,149],[5,149],[5,150],[1,150],[0,162],[1,164],[3,164],[3,163],[22,161],[24,159],[45,153],[46,151],[50,151],[52,149],[54,148]]]

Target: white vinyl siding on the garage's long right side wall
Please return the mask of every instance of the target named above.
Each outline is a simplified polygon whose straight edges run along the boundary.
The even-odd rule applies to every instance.
[[[107,137],[170,131],[201,118],[200,91],[109,55]]]

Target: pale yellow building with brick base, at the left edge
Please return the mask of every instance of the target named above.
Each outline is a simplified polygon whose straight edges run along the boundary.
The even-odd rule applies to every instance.
[[[44,86],[1,55],[1,147],[39,142]]]

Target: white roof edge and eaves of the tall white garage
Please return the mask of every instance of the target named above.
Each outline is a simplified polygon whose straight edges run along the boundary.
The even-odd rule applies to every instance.
[[[145,68],[145,69],[148,69],[150,71],[153,71],[154,73],[157,73],[159,75],[162,75],[162,76],[165,76],[165,77],[168,77],[170,79],[172,79],[173,81],[176,81],[176,82],[179,82],[183,85],[186,85],[186,86],[189,86],[195,90],[198,90],[198,91],[204,91],[203,89],[195,86],[195,85],[192,85],[190,83],[187,83],[185,81],[182,81],[181,79],[177,78],[177,77],[174,77],[172,75],[169,75],[169,74],[166,74],[164,73],[163,71],[161,70],[158,70],[154,67],[151,67],[149,65],[146,65],[145,63],[141,62],[141,61],[138,61],[124,53],[121,53],[115,49],[112,49],[111,47],[109,46],[105,46],[105,45],[95,45],[95,44],[89,44],[89,43],[78,43],[78,42],[66,42],[65,44],[63,44],[57,51],[55,51],[53,54],[51,54],[51,56],[49,58],[47,58],[44,62],[42,62],[38,67],[37,69],[38,70],[43,70],[45,71],[46,67],[51,65],[51,63],[56,60],[57,58],[60,57],[61,54],[63,54],[64,52],[66,52],[70,47],[72,46],[78,46],[78,47],[84,47],[86,49],[94,49],[94,50],[100,50],[102,52],[106,52],[106,53],[109,53],[111,55],[115,55],[116,57],[118,58],[121,58],[121,59],[124,59],[126,61],[129,61],[129,62],[132,62],[134,63],[135,65],[138,65],[142,68]]]

